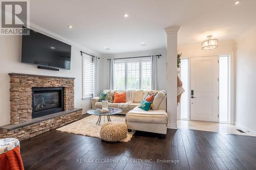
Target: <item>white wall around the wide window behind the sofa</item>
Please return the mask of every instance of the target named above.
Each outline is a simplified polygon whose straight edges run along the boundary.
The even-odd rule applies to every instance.
[[[109,61],[108,59],[113,58],[125,58],[125,57],[139,57],[139,56],[149,56],[161,54],[158,59],[158,89],[166,90],[166,50],[151,50],[151,51],[140,51],[132,53],[118,53],[103,55],[100,64],[100,90],[109,89]]]

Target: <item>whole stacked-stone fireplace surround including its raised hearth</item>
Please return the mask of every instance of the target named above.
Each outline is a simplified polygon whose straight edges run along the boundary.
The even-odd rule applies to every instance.
[[[74,79],[10,73],[10,125],[0,127],[0,138],[24,140],[82,117],[74,109]],[[32,87],[63,87],[63,112],[32,119]]]

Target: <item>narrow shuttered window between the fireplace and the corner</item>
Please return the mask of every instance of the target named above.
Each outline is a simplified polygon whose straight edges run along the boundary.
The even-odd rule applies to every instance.
[[[82,54],[82,98],[92,98],[94,90],[93,57]]]

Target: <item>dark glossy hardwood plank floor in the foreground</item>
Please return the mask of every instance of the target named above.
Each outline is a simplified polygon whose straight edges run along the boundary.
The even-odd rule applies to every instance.
[[[20,145],[25,169],[256,169],[256,137],[196,130],[168,129],[165,139],[136,132],[117,143],[51,130]]]

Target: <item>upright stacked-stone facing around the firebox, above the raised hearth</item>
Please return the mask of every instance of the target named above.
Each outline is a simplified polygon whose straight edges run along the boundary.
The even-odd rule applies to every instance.
[[[63,87],[64,111],[74,109],[74,78],[16,73],[9,75],[11,124],[32,119],[32,87]]]

